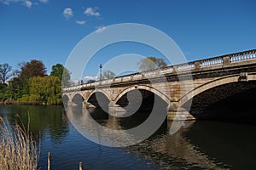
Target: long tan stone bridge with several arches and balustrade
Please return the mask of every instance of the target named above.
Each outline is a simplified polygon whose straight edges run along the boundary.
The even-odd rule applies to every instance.
[[[154,102],[149,100],[159,99],[169,120],[189,120],[206,117],[205,108],[222,99],[256,89],[255,82],[256,49],[252,49],[63,88],[62,97],[66,105],[80,101],[108,111],[132,110],[140,97],[143,110],[152,109]]]

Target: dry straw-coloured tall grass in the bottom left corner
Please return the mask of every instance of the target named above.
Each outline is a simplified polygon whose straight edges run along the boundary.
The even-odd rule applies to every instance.
[[[37,166],[37,145],[29,130],[23,124],[11,126],[0,117],[0,169],[35,170]]]

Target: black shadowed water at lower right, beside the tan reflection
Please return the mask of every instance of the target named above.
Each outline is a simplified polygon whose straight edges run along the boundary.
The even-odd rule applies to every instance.
[[[256,168],[256,127],[231,122],[199,121],[185,133],[205,155],[231,169]]]

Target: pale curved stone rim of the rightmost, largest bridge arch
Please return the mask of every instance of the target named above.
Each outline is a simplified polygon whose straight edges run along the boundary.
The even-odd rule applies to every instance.
[[[186,102],[189,101],[189,99],[192,99],[194,96],[201,94],[207,91],[208,89],[229,84],[232,82],[239,82],[239,79],[240,79],[240,75],[235,75],[235,76],[229,76],[229,77],[222,77],[217,80],[213,80],[211,82],[202,84],[201,86],[191,90],[188,94],[183,95],[183,97],[178,100],[178,105],[179,106],[184,105]],[[248,75],[247,81],[256,81],[256,75]]]

